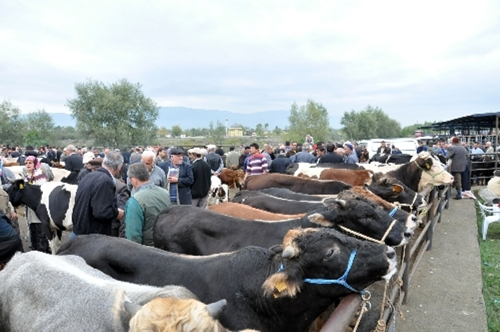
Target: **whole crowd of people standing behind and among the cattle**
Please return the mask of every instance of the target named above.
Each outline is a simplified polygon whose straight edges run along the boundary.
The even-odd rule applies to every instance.
[[[426,150],[452,161],[449,171],[455,179],[456,199],[470,193],[468,156],[494,152],[490,142],[484,144],[484,149],[478,142],[468,147],[458,137],[449,142],[438,141],[432,147],[419,141],[416,152]],[[382,141],[377,153],[400,151]],[[275,147],[269,143],[260,147],[252,142],[246,146],[229,146],[228,151],[214,144],[189,149],[135,146],[123,150],[71,144],[63,149],[27,146],[22,150],[2,146],[0,242],[19,247],[16,213],[6,193],[15,177],[8,168],[2,167],[4,158],[16,158],[24,166],[24,182],[34,185],[53,179],[49,165],[63,162],[65,169],[78,172],[71,238],[100,233],[152,245],[152,225],[156,215],[176,204],[206,207],[211,177],[218,176],[224,167],[241,169],[246,180],[266,172],[286,173],[287,167],[295,162],[362,163],[368,162],[369,157],[366,147],[356,142],[314,142],[310,135],[303,142],[286,141]],[[49,252],[48,241],[35,211],[26,207],[24,213],[29,224],[31,248]]]

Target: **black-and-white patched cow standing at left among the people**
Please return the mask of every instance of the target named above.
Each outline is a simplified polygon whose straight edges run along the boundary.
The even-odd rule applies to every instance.
[[[24,204],[36,213],[53,254],[60,246],[62,231],[73,229],[71,214],[77,187],[64,182],[35,185],[15,180],[9,188],[13,206]]]

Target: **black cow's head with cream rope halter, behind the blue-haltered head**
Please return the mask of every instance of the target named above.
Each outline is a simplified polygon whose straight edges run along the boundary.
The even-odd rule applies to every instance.
[[[404,245],[411,239],[413,230],[406,226],[412,220],[409,213],[400,211],[395,219],[375,202],[356,199],[337,199],[334,204],[310,211],[302,220],[314,225],[329,227],[349,235],[387,245]]]

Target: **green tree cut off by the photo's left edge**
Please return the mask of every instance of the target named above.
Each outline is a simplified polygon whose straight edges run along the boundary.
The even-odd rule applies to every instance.
[[[24,121],[20,116],[19,107],[12,105],[10,100],[3,100],[0,104],[0,142],[10,146],[24,143]]]

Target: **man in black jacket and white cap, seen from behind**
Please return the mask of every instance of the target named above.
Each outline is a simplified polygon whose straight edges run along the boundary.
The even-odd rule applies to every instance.
[[[191,159],[194,182],[191,185],[191,205],[206,207],[208,191],[210,190],[210,165],[201,157],[201,149],[194,147],[187,150]]]

